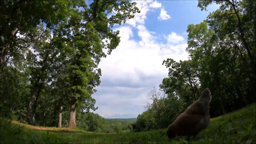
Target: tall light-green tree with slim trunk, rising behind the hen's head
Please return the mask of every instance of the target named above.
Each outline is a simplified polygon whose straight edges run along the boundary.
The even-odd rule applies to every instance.
[[[217,84],[212,88],[219,91],[219,100],[222,113],[226,114],[223,105],[223,92],[219,72],[223,69],[222,55],[219,51],[217,36],[212,29],[207,28],[207,24],[202,22],[197,25],[188,26],[188,48],[193,61],[198,62],[199,79],[202,85],[210,86],[210,83]],[[221,65],[222,64],[222,65]],[[204,75],[208,75],[207,77]],[[204,77],[204,78],[203,78]],[[209,81],[213,79],[213,81]],[[210,83],[209,83],[210,82]]]

